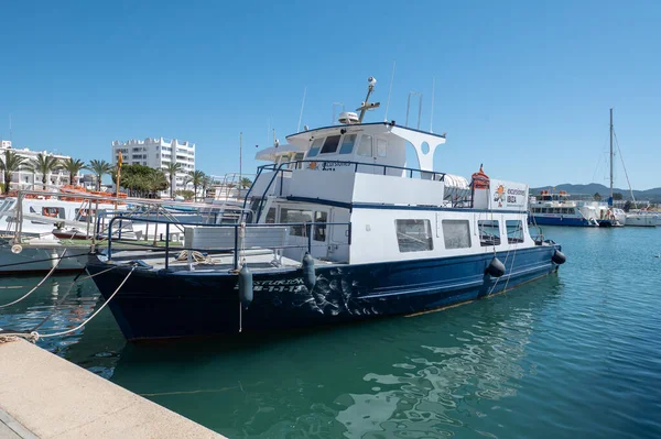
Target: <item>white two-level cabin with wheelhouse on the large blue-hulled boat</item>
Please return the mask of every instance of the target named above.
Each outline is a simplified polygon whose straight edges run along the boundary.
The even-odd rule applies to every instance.
[[[248,198],[253,222],[294,223],[288,257],[300,261],[306,243],[318,260],[350,264],[535,245],[527,223],[528,185],[484,173],[469,184],[434,171],[434,152],[445,135],[379,122],[308,130],[286,140],[282,153],[277,147],[258,153],[274,163],[260,167]],[[419,168],[407,166],[411,146]]]

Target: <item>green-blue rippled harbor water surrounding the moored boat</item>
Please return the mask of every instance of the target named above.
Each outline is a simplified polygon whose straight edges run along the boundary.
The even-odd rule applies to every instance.
[[[661,230],[544,233],[568,259],[557,274],[440,312],[127,344],[104,310],[40,345],[229,438],[661,437]],[[39,279],[0,279],[0,304]],[[99,304],[90,281],[62,301],[72,279],[0,327],[75,327]]]

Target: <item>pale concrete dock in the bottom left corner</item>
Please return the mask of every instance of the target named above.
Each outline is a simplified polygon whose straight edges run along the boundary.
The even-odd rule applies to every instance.
[[[224,438],[28,341],[0,342],[0,438]]]

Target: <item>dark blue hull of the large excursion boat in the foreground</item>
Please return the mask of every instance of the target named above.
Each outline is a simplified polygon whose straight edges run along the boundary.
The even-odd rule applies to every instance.
[[[237,275],[137,268],[109,307],[128,340],[282,330],[407,315],[513,288],[557,268],[560,246],[498,253],[499,279],[485,275],[492,253],[470,256],[316,267],[312,292],[301,270],[253,275],[254,298],[241,309]],[[108,265],[90,261],[90,274]],[[94,277],[106,299],[130,268]]]

